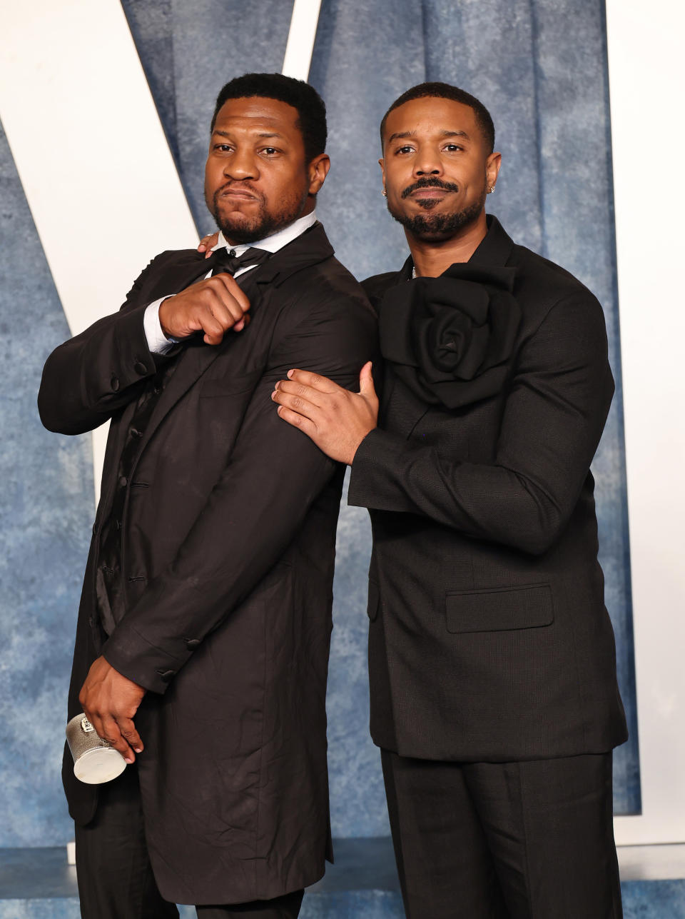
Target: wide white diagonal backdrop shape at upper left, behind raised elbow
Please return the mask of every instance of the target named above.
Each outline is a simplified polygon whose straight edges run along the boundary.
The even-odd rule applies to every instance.
[[[76,335],[197,232],[118,0],[5,4],[2,36],[0,118]]]

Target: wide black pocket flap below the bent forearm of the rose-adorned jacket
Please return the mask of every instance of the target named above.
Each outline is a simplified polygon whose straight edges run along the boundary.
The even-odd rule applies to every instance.
[[[536,629],[555,618],[549,584],[471,590],[445,600],[447,631],[455,633]]]

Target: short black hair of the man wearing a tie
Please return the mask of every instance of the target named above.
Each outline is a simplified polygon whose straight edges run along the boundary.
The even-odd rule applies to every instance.
[[[230,80],[217,96],[210,130],[214,130],[219,109],[224,102],[228,99],[253,96],[277,99],[297,109],[298,128],[305,142],[305,156],[308,163],[319,153],[325,152],[328,128],[326,126],[326,105],[323,99],[309,83],[283,74],[242,74]]]

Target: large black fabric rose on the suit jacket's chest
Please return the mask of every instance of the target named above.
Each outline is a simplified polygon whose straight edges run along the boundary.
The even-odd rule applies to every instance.
[[[500,391],[521,323],[515,275],[456,264],[387,291],[378,307],[381,352],[411,391],[448,408]]]

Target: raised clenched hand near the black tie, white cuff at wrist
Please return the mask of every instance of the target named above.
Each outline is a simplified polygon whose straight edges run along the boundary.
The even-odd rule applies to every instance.
[[[249,309],[246,295],[224,272],[168,297],[160,305],[159,319],[167,338],[204,332],[207,345],[220,345],[225,332],[240,332],[250,322]]]

